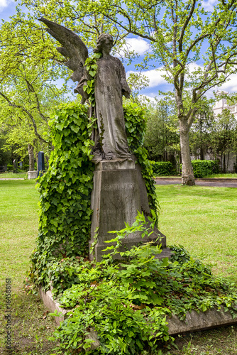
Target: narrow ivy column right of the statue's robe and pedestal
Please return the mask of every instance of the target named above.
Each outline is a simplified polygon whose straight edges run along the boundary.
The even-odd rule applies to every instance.
[[[124,119],[128,146],[136,155],[136,162],[140,164],[141,174],[148,191],[150,208],[158,211],[158,201],[155,194],[152,165],[148,160],[148,151],[143,146],[145,136],[144,110],[138,104],[126,102],[123,104]]]

